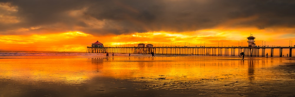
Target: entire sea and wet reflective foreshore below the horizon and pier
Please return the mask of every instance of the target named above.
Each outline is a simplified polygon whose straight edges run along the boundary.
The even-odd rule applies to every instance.
[[[0,51],[0,97],[284,97],[294,89],[294,57]]]

